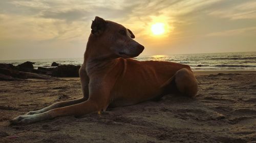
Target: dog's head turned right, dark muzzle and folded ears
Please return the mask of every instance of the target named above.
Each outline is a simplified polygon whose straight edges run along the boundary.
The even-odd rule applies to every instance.
[[[91,36],[101,43],[104,51],[112,52],[112,55],[120,58],[133,58],[138,56],[144,46],[133,40],[135,38],[131,30],[113,21],[95,17],[91,25]]]

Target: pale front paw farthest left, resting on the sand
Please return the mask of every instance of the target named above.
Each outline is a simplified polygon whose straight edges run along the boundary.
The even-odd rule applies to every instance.
[[[11,125],[18,124],[31,124],[34,123],[34,118],[31,115],[20,115],[12,120],[10,120]]]

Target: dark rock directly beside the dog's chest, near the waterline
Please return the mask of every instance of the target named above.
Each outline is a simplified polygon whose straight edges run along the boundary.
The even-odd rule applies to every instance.
[[[56,77],[79,77],[80,66],[60,65],[52,72],[52,76]]]

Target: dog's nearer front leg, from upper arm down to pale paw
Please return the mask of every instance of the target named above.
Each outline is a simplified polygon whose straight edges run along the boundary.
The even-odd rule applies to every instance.
[[[97,79],[98,78],[99,77],[97,77]],[[62,116],[81,116],[90,112],[105,109],[110,103],[110,89],[113,87],[113,84],[107,84],[109,82],[114,84],[114,82],[111,82],[111,78],[109,78],[109,80],[90,81],[90,95],[87,101],[70,106],[54,108],[49,111],[33,115],[21,115],[10,122],[11,124],[30,124]]]

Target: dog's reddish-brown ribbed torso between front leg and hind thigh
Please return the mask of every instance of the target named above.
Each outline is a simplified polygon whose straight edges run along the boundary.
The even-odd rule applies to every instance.
[[[164,84],[175,73],[189,66],[173,62],[137,61],[133,59],[116,59],[118,72],[109,72],[116,77],[116,83],[111,92],[113,104],[116,106],[131,105],[161,96]],[[123,102],[122,102],[123,101]]]

